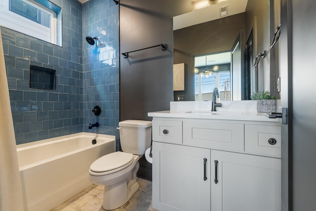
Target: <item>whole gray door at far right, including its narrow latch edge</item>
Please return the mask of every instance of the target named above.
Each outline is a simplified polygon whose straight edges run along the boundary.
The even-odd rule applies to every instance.
[[[315,0],[281,0],[282,211],[316,210],[315,11]]]

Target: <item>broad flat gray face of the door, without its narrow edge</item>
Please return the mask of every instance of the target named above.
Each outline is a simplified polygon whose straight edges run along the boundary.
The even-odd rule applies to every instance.
[[[294,211],[316,210],[316,1],[291,0],[292,195]],[[290,78],[290,76],[289,76]],[[289,100],[290,101],[290,100]],[[289,138],[290,139],[290,138]]]

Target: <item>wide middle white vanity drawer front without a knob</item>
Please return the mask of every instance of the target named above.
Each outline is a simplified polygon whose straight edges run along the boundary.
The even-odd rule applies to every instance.
[[[243,151],[243,124],[183,122],[183,144]]]

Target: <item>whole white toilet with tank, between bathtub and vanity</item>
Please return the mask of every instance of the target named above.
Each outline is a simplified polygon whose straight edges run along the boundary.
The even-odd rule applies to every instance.
[[[114,152],[94,161],[89,169],[90,180],[104,185],[103,208],[114,210],[136,193],[138,160],[152,141],[152,122],[126,120],[118,123],[122,152]]]

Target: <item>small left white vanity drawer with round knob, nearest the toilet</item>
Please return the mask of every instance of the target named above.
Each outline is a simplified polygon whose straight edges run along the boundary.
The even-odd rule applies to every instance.
[[[182,144],[182,121],[153,120],[153,141]]]

